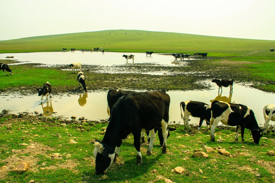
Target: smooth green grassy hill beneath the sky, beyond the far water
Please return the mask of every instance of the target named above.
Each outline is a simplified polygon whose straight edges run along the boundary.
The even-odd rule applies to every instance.
[[[62,48],[103,47],[121,52],[208,52],[212,56],[242,55],[269,50],[275,41],[199,36],[135,30],[107,30],[87,33],[49,35],[0,41],[0,53],[60,51]]]

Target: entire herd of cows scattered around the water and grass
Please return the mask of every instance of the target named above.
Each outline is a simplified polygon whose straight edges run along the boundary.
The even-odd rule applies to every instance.
[[[95,49],[95,48],[94,48]],[[95,49],[97,50],[97,49]],[[153,52],[146,52],[146,56],[151,55]],[[195,53],[194,53],[195,54]],[[207,53],[198,53],[202,56],[207,56]],[[172,54],[175,58],[189,58],[189,54]],[[127,59],[133,59],[134,55],[123,55]],[[1,69],[10,72],[12,70],[7,64],[0,63]],[[80,72],[77,75],[77,81],[79,86],[87,92],[85,85],[85,75],[81,72],[81,63],[72,63],[69,65],[72,69],[72,73],[75,73],[76,69]],[[5,74],[4,74],[5,76]],[[230,86],[230,94],[233,91],[234,80],[219,80],[213,79],[219,86],[219,93],[222,87]],[[38,89],[39,96],[41,97],[41,103],[43,97],[51,97],[51,84],[46,82],[41,88]],[[123,140],[127,139],[130,134],[134,136],[134,146],[137,150],[136,164],[142,164],[142,155],[140,151],[141,138],[144,141],[144,132],[149,134],[149,146],[147,149],[147,155],[151,154],[153,144],[156,138],[156,133],[160,139],[162,146],[162,153],[166,154],[167,138],[169,136],[169,106],[170,97],[165,90],[154,90],[147,92],[135,92],[127,90],[109,90],[107,93],[108,113],[110,118],[108,120],[108,126],[103,137],[103,140],[96,140],[94,157],[96,158],[96,174],[106,173],[108,167],[112,162],[116,161],[116,157],[119,155],[120,145]],[[182,115],[182,111],[184,115]],[[180,102],[181,118],[184,120],[186,128],[190,128],[189,116],[199,117],[199,128],[202,125],[203,120],[206,121],[207,129],[210,126],[210,140],[215,141],[215,129],[218,124],[221,123],[226,126],[236,126],[235,140],[238,140],[238,134],[241,132],[241,140],[244,141],[243,134],[245,129],[251,130],[254,143],[259,144],[260,138],[263,136],[263,132],[268,132],[268,123],[270,120],[275,121],[275,105],[269,104],[264,106],[264,129],[258,126],[253,110],[242,104],[228,103],[215,100],[210,105],[199,101],[183,101]],[[272,132],[275,130],[272,129]]]

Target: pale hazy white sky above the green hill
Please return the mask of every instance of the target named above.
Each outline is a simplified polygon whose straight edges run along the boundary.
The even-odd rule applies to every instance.
[[[275,0],[0,0],[0,40],[140,29],[275,40]]]

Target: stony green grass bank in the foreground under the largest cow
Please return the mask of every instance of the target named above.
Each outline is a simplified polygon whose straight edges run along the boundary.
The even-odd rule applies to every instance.
[[[235,128],[217,128],[216,140],[210,142],[209,131],[197,127],[186,131],[176,128],[168,138],[168,152],[161,154],[156,138],[151,156],[146,156],[148,144],[142,144],[143,164],[136,163],[133,136],[120,148],[117,163],[106,176],[95,175],[93,157],[95,138],[102,139],[107,123],[71,121],[29,115],[4,115],[0,118],[0,182],[272,182],[274,135],[268,134],[256,145],[246,130],[245,142],[234,141]],[[240,138],[240,137],[239,137]],[[210,153],[204,145],[212,147]],[[218,153],[226,149],[231,155]],[[194,158],[195,151],[203,151],[208,158]],[[22,161],[29,161],[28,171],[10,171]],[[185,171],[176,173],[174,168]]]

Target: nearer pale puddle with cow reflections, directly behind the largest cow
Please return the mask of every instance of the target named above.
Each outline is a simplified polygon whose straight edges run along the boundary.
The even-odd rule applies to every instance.
[[[171,98],[170,117],[169,121],[182,123],[180,117],[179,104],[182,101],[194,100],[210,104],[214,99],[223,100],[226,102],[235,102],[244,104],[252,108],[256,119],[260,126],[263,126],[262,108],[269,103],[275,101],[275,95],[265,93],[261,90],[234,84],[233,94],[229,94],[229,87],[223,88],[222,96],[218,95],[218,87],[213,87],[211,90],[193,90],[188,92],[169,91]],[[11,113],[29,112],[44,113],[45,115],[63,116],[70,118],[76,115],[77,119],[84,116],[89,120],[107,119],[107,91],[106,92],[88,92],[76,95],[54,96],[46,101],[43,99],[43,104],[40,104],[41,97],[37,95],[18,96],[15,94],[0,95],[0,110],[8,109]],[[199,118],[190,117],[191,124],[198,124]],[[205,122],[204,124],[205,125]]]

